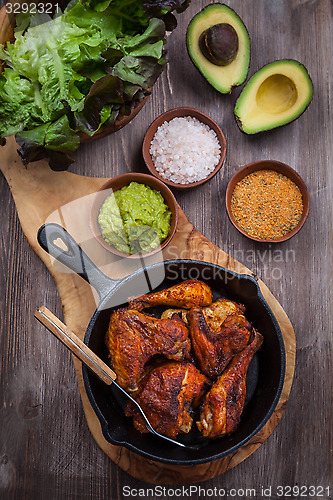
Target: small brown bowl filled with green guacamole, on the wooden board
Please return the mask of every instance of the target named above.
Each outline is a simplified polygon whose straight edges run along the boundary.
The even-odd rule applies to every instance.
[[[110,179],[91,211],[94,236],[107,250],[139,258],[163,249],[177,225],[178,205],[169,188],[140,173]]]

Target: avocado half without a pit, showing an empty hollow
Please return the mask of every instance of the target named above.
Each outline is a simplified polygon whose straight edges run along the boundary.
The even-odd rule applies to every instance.
[[[296,120],[312,96],[312,81],[303,64],[282,59],[250,78],[237,99],[235,118],[246,134],[271,130]]]

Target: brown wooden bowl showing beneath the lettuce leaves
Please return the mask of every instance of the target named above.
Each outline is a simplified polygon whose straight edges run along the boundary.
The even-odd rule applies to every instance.
[[[16,3],[24,3],[24,0],[17,0],[15,2],[15,5]],[[14,27],[15,27],[15,14],[7,14],[6,6],[2,7],[2,9],[0,9],[0,43],[5,44],[5,42],[14,41],[14,29],[13,29]],[[0,60],[0,73],[2,70],[3,70],[3,65]],[[148,89],[149,95],[150,91],[151,89]],[[147,99],[149,98],[149,95],[143,97],[140,101],[138,101],[138,103],[136,104],[136,106],[129,115],[119,115],[113,125],[106,125],[106,124],[102,125],[101,128],[93,136],[81,132],[79,134],[80,142],[82,143],[91,142],[94,141],[95,139],[99,139],[100,137],[105,137],[106,135],[112,134],[113,132],[116,132],[117,130],[123,128],[131,120],[133,120],[133,118],[143,108]]]

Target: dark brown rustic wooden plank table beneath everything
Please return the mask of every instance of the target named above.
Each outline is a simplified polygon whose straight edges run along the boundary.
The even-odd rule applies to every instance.
[[[186,27],[207,3],[192,0],[178,17],[178,28],[168,44],[170,63],[140,114],[116,134],[83,145],[70,170],[101,177],[145,172],[140,147],[147,126],[161,112],[179,105],[196,107],[221,125],[228,141],[225,168],[200,188],[175,194],[199,231],[250,267],[280,301],[296,332],[296,372],[286,411],[272,436],[236,468],[201,483],[205,492],[192,490],[191,498],[205,494],[218,498],[223,489],[235,498],[254,497],[254,493],[260,499],[298,498],[301,493],[303,497],[331,498],[332,3],[228,2],[251,35],[249,75],[275,59],[294,58],[305,64],[314,83],[313,102],[299,120],[257,137],[241,134],[234,121],[233,106],[240,90],[219,95],[186,53]],[[283,244],[251,242],[234,229],[224,209],[231,175],[245,163],[266,158],[291,165],[310,190],[308,221]],[[146,498],[172,498],[177,494],[175,485],[169,493],[151,491],[147,483],[114,465],[92,438],[72,360],[33,318],[41,304],[61,317],[61,303],[48,270],[24,238],[3,177],[0,200],[0,498],[114,500],[129,492],[130,496],[139,495],[139,488]],[[299,494],[288,490],[294,485],[300,487]]]

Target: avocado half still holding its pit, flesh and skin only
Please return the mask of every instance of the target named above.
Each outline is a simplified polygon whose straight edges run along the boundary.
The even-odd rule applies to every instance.
[[[199,47],[201,34],[220,23],[230,24],[238,35],[237,55],[226,66],[217,66],[210,62]],[[250,64],[250,38],[240,17],[227,5],[210,4],[196,14],[188,26],[186,43],[192,62],[206,80],[222,94],[229,93],[232,87],[241,85],[245,81]]]

